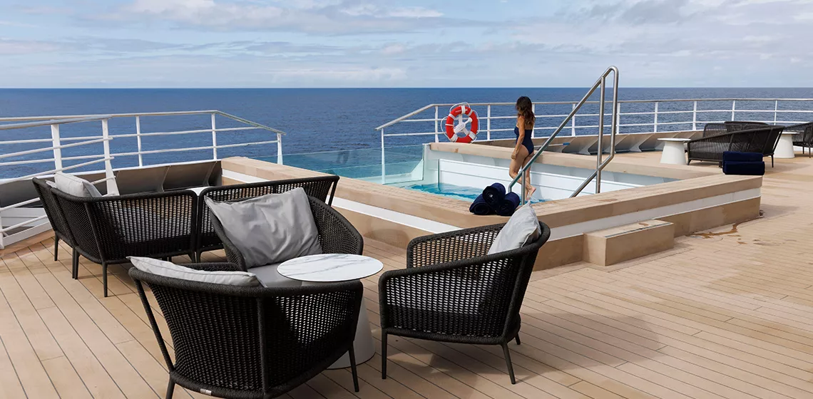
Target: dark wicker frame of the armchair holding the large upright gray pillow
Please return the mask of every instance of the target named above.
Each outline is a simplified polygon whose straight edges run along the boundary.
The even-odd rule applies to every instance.
[[[364,240],[350,222],[340,213],[321,200],[308,197],[311,202],[311,213],[319,231],[319,243],[324,254],[356,254],[360,255],[364,249]],[[208,209],[208,208],[207,208]],[[211,210],[210,210],[211,213]],[[223,224],[215,215],[211,215],[211,225],[215,234],[223,241],[228,262],[236,264],[242,271],[248,271],[246,259],[240,249],[228,239]]]

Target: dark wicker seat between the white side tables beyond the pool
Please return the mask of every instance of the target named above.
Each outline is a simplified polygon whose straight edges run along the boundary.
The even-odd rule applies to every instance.
[[[726,151],[760,153],[771,157],[784,127],[766,125],[750,130],[741,130],[702,137],[689,141],[689,163],[692,161],[723,162]]]

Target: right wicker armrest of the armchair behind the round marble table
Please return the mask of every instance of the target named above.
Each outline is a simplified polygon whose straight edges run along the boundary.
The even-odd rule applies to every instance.
[[[319,231],[319,241],[325,254],[356,254],[364,249],[364,239],[337,210],[315,197],[311,201],[311,212]]]

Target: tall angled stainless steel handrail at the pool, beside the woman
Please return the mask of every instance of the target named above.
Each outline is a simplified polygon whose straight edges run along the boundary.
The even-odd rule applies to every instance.
[[[614,76],[613,100],[612,100],[612,121],[611,121],[611,132],[610,132],[611,154],[602,163],[602,152],[604,151],[604,148],[602,147],[602,137],[604,136],[604,100],[605,100],[605,98],[604,98],[604,94],[605,94],[604,89],[605,89],[605,86],[606,86],[606,77],[609,76],[610,73],[613,73],[613,76]],[[530,167],[532,167],[533,163],[537,162],[537,158],[539,158],[539,156],[542,154],[542,152],[544,152],[545,150],[548,149],[548,147],[550,146],[550,143],[554,140],[554,138],[559,135],[559,132],[562,132],[564,127],[567,125],[567,123],[570,122],[570,119],[572,119],[573,116],[576,115],[576,113],[581,109],[581,106],[584,106],[585,103],[588,102],[587,100],[590,98],[590,96],[593,95],[593,93],[595,93],[596,89],[598,89],[599,87],[601,88],[601,92],[600,92],[601,93],[601,98],[598,100],[598,103],[599,103],[599,114],[598,114],[599,115],[598,116],[598,157],[597,157],[597,161],[596,161],[596,171],[593,172],[593,175],[590,176],[588,180],[585,180],[585,183],[581,184],[579,189],[576,189],[576,192],[574,192],[571,195],[571,197],[576,197],[576,195],[579,195],[579,193],[581,193],[581,190],[585,189],[587,184],[589,184],[590,181],[593,180],[594,177],[598,177],[598,179],[600,180],[601,179],[601,171],[602,171],[602,169],[604,169],[604,167],[606,167],[607,163],[610,163],[612,158],[615,158],[615,133],[618,130],[618,118],[617,118],[617,116],[618,116],[618,68],[617,67],[608,67],[606,69],[606,71],[602,74],[602,76],[599,77],[598,80],[596,80],[596,83],[593,84],[593,87],[591,87],[589,89],[589,91],[587,92],[587,94],[585,94],[585,97],[581,98],[581,101],[576,103],[576,106],[573,106],[573,111],[571,111],[570,114],[567,115],[567,118],[565,118],[562,121],[562,123],[559,124],[559,128],[556,128],[556,130],[554,130],[554,132],[550,134],[550,137],[548,137],[548,139],[541,145],[539,150],[537,150],[537,154],[534,154],[533,158],[531,158],[531,160],[528,161],[528,163],[526,163],[524,165],[524,167],[520,167],[520,173],[513,180],[511,180],[511,184],[508,184],[508,191],[511,191],[511,189],[514,188],[514,184],[516,184],[517,181],[519,181],[520,179],[523,180],[522,181],[522,197],[520,198],[520,201],[522,203],[524,203],[526,201],[526,199],[525,199],[525,171],[527,171]],[[598,190],[600,189],[600,186],[601,186],[601,183],[597,180],[596,181],[596,190],[597,190],[596,192],[597,193],[598,193]]]

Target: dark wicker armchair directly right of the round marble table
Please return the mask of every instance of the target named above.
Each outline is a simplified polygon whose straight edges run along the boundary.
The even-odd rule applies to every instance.
[[[501,345],[511,384],[508,342],[520,345],[520,307],[539,249],[550,228],[539,223],[537,240],[488,254],[503,224],[412,240],[406,269],[387,271],[378,283],[381,378],[387,377],[387,336],[477,345]]]

